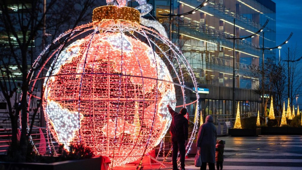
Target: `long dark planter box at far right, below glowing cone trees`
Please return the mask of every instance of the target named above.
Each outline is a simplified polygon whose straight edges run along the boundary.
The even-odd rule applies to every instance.
[[[302,127],[261,127],[263,135],[302,135]]]

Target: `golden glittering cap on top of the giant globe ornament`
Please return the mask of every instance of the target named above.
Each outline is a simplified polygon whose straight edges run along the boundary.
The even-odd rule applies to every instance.
[[[117,7],[113,5],[95,8],[92,13],[92,21],[102,21],[103,19],[126,20],[140,23],[140,11],[130,7]]]

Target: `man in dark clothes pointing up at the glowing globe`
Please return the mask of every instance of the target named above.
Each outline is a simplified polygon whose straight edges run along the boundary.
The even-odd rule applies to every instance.
[[[187,114],[187,109],[182,108],[180,113],[175,112],[170,105],[167,105],[172,116],[172,123],[170,127],[171,141],[173,147],[172,165],[173,170],[177,168],[177,153],[179,150],[180,168],[185,170],[185,145],[188,143],[188,119],[184,116]]]

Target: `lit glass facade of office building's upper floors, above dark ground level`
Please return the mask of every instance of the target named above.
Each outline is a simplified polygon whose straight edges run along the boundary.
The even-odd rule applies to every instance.
[[[234,36],[233,21],[235,19],[235,36],[245,37],[258,31],[269,19],[264,30],[264,46],[273,47],[276,44],[274,3],[264,6],[256,0],[210,0],[194,14],[183,17],[160,15],[182,14],[202,2],[157,0],[155,15],[169,30],[169,38],[179,44],[187,56],[198,83],[233,87],[233,40],[226,39]],[[251,64],[262,63],[262,51],[257,49],[261,47],[262,34],[235,42],[236,88],[253,89],[253,84],[259,81],[249,77],[248,68]],[[275,51],[265,51],[267,57],[275,57]]]

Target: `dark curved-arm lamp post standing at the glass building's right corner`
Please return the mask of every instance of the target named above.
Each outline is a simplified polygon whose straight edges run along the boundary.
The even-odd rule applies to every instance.
[[[281,43],[280,45],[276,46],[276,47],[271,47],[271,48],[265,48],[264,47],[264,32],[262,33],[262,48],[257,48],[257,49],[261,49],[262,50],[262,82],[261,82],[261,88],[262,88],[262,115],[264,115],[265,113],[265,108],[264,108],[264,50],[273,50],[273,49],[276,49],[276,48],[279,48],[281,47],[282,45],[288,43],[288,40],[291,38],[291,36],[293,35],[293,33],[291,32],[291,34],[288,36],[288,38],[283,42]],[[266,117],[266,115],[264,115]]]

